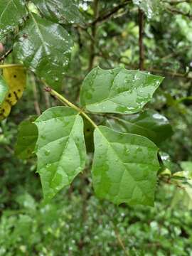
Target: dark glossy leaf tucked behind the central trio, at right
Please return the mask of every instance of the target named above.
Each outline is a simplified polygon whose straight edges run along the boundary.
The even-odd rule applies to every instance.
[[[147,137],[157,145],[173,134],[169,120],[154,110],[146,110],[129,116],[112,117],[107,119],[106,124],[117,132]]]

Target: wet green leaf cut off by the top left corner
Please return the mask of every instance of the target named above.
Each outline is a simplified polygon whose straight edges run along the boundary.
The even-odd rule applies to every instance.
[[[26,16],[25,1],[0,1],[0,40],[23,22]]]

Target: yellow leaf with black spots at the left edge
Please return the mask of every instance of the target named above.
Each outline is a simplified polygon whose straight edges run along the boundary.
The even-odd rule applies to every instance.
[[[9,85],[9,92],[0,106],[0,120],[9,116],[11,107],[22,97],[26,87],[26,70],[21,65],[5,65],[3,76]]]

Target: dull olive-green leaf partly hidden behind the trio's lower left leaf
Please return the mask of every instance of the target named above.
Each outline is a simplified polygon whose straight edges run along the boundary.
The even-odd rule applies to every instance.
[[[33,151],[38,139],[38,129],[33,122],[36,116],[24,120],[18,126],[18,137],[15,146],[15,154],[21,159],[28,159],[33,155]]]

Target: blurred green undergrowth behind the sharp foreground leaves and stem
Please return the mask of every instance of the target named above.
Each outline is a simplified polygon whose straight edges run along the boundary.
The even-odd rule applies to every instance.
[[[76,4],[83,16],[82,24],[77,25],[79,20],[73,21],[71,16],[67,22],[60,21],[75,42],[61,89],[72,102],[78,102],[82,80],[97,65],[103,69],[139,68],[138,6],[144,11],[144,69],[165,77],[146,108],[164,114],[173,129],[171,138],[163,144],[158,142],[166,175],[159,176],[154,208],[117,207],[93,195],[90,153],[85,172],[75,178],[73,186],[61,191],[51,203],[43,203],[36,159],[18,159],[14,145],[21,121],[60,103],[44,92],[33,73],[28,73],[22,100],[0,128],[0,255],[192,255],[191,193],[169,179],[170,171],[191,172],[190,164],[185,165],[192,161],[191,1],[135,0],[117,4],[80,0]],[[3,8],[0,3],[0,9]],[[13,9],[18,16],[23,14],[23,9],[19,10]],[[50,17],[50,13],[45,15]],[[60,16],[51,18],[60,20]],[[10,24],[15,26],[14,21]],[[18,28],[7,29],[11,33],[1,38],[1,60],[13,47]],[[22,35],[17,48],[22,46]],[[14,63],[18,58],[25,58],[27,63],[24,54],[18,56],[14,50],[6,57],[6,63]],[[91,133],[87,124],[89,151]]]

